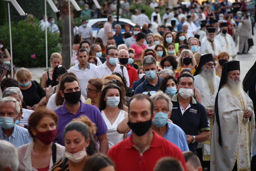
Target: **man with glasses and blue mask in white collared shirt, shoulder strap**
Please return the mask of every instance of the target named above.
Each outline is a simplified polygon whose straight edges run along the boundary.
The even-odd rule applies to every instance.
[[[117,47],[108,47],[105,54],[106,61],[95,69],[94,77],[101,78],[103,80],[106,75],[119,71],[126,78],[127,86],[129,87],[130,81],[127,69],[123,65],[118,64],[118,57]]]

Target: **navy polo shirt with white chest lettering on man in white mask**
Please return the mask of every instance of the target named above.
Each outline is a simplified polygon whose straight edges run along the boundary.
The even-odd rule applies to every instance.
[[[172,98],[173,109],[170,119],[178,125],[186,135],[198,135],[198,131],[210,131],[207,113],[203,105],[193,97],[190,100],[190,106],[182,115],[178,94]],[[196,154],[198,143],[190,143],[189,150]]]

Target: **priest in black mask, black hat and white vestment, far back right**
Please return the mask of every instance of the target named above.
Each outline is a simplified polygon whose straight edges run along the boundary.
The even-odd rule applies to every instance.
[[[215,39],[220,42],[222,50],[228,52],[229,56],[236,60],[236,46],[232,36],[228,34],[228,23],[220,23],[220,33]]]

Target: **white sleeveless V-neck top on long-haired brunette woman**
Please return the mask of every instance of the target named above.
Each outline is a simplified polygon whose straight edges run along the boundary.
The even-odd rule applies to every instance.
[[[123,134],[119,134],[117,132],[117,125],[119,124],[119,122],[121,122],[124,119],[124,114],[125,111],[124,110],[120,110],[117,119],[115,120],[115,122],[113,123],[113,125],[111,125],[111,123],[109,122],[108,118],[106,117],[105,113],[103,110],[101,110],[101,115],[108,127],[108,132],[107,132],[107,136],[108,136],[108,148],[110,149],[112,146],[114,146],[115,144],[119,143],[120,141],[123,140]]]

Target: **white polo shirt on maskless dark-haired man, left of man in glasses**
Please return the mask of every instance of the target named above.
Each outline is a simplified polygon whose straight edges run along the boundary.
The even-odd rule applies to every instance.
[[[76,78],[79,81],[79,86],[81,89],[81,95],[87,100],[86,87],[88,85],[88,81],[92,78],[97,78],[94,76],[94,71],[97,68],[95,65],[91,65],[88,63],[88,66],[85,70],[83,70],[79,64],[72,66],[68,71],[73,72],[76,75]]]

